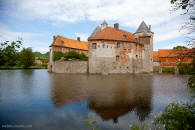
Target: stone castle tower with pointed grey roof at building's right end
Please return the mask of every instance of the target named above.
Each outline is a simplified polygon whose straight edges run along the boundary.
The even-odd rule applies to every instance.
[[[153,71],[153,32],[151,26],[147,26],[144,21],[139,25],[134,37],[144,45],[143,54],[143,72]]]

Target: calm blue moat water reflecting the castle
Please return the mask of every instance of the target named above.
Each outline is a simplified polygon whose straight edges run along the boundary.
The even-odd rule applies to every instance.
[[[131,124],[149,124],[170,102],[190,100],[187,78],[0,70],[0,125],[87,130],[85,120],[91,116],[97,121],[95,128],[126,130]]]

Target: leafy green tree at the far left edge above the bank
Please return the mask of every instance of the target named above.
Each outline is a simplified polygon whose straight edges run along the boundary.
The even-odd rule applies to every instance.
[[[5,41],[1,43],[0,47],[0,65],[2,66],[14,66],[17,64],[18,49],[22,45],[20,40],[18,41]]]

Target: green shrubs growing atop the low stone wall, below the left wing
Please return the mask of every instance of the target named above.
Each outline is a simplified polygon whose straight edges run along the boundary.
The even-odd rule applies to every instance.
[[[66,53],[54,52],[53,60],[54,61],[58,61],[58,60],[87,61],[88,57],[84,53],[79,54],[76,51],[70,51]]]

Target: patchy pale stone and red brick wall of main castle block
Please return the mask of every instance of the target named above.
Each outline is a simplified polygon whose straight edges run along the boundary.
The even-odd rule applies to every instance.
[[[92,44],[96,43],[96,49]],[[136,48],[136,49],[135,49]],[[142,46],[136,43],[116,41],[90,41],[89,42],[89,73],[140,73],[143,72]],[[116,61],[119,56],[119,61]]]

